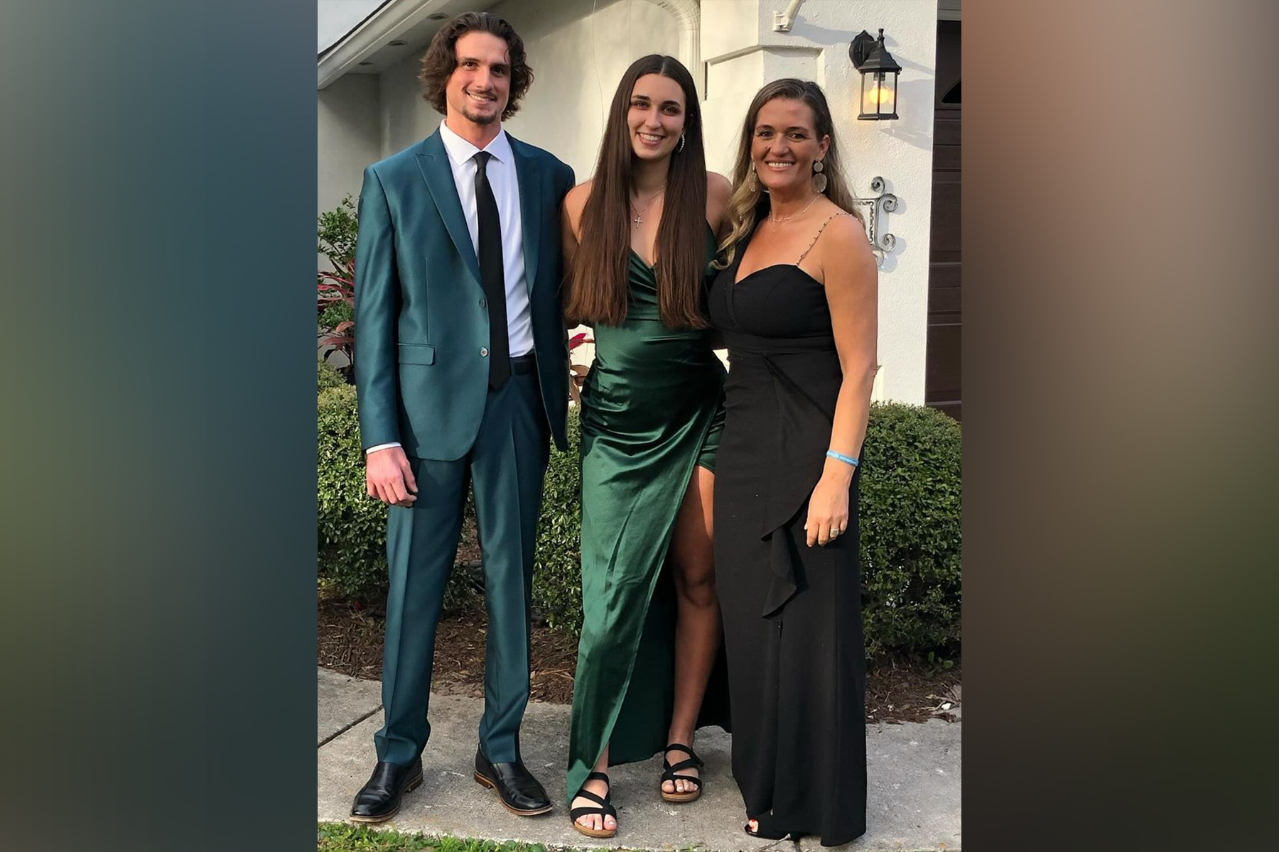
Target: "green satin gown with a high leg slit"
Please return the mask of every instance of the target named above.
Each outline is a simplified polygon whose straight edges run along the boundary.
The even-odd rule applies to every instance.
[[[709,263],[709,232],[707,243]],[[661,322],[655,272],[634,252],[627,278],[627,317],[595,327],[582,388],[583,618],[569,802],[605,745],[610,765],[647,760],[668,745],[675,654],[668,551],[693,469],[715,470],[724,427],[725,370],[711,332]],[[698,726],[728,727],[723,663],[721,654]]]

